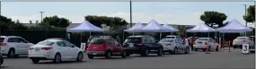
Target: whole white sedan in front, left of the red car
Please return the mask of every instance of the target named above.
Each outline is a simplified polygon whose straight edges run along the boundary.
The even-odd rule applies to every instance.
[[[29,48],[29,58],[34,64],[40,60],[53,60],[54,63],[59,63],[71,59],[82,61],[84,54],[79,47],[66,40],[43,40]]]

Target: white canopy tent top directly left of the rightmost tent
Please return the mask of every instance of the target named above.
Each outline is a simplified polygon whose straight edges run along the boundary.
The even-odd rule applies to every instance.
[[[186,30],[187,32],[212,32],[216,31],[213,28],[208,27],[205,22],[200,22],[197,26],[190,30]]]

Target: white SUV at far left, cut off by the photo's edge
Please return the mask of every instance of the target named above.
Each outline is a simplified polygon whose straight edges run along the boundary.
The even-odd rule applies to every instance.
[[[28,55],[29,47],[34,45],[18,36],[1,36],[1,42],[1,52],[8,57]]]

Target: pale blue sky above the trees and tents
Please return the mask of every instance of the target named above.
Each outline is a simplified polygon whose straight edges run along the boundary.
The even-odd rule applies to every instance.
[[[245,25],[243,4],[253,2],[132,2],[132,22],[197,25],[205,11],[227,15],[226,21],[236,19]],[[1,14],[23,23],[40,21],[45,16],[57,15],[73,23],[84,22],[86,15],[118,16],[130,22],[129,2],[2,2]],[[225,21],[225,22],[226,22]],[[249,24],[252,26],[251,24]]]

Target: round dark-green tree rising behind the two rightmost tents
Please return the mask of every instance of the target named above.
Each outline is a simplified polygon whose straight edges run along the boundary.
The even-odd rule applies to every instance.
[[[223,27],[225,24],[223,23],[227,16],[225,13],[218,13],[214,11],[207,11],[200,16],[200,20],[204,21],[207,26],[212,27],[214,25],[218,25],[218,27]]]

